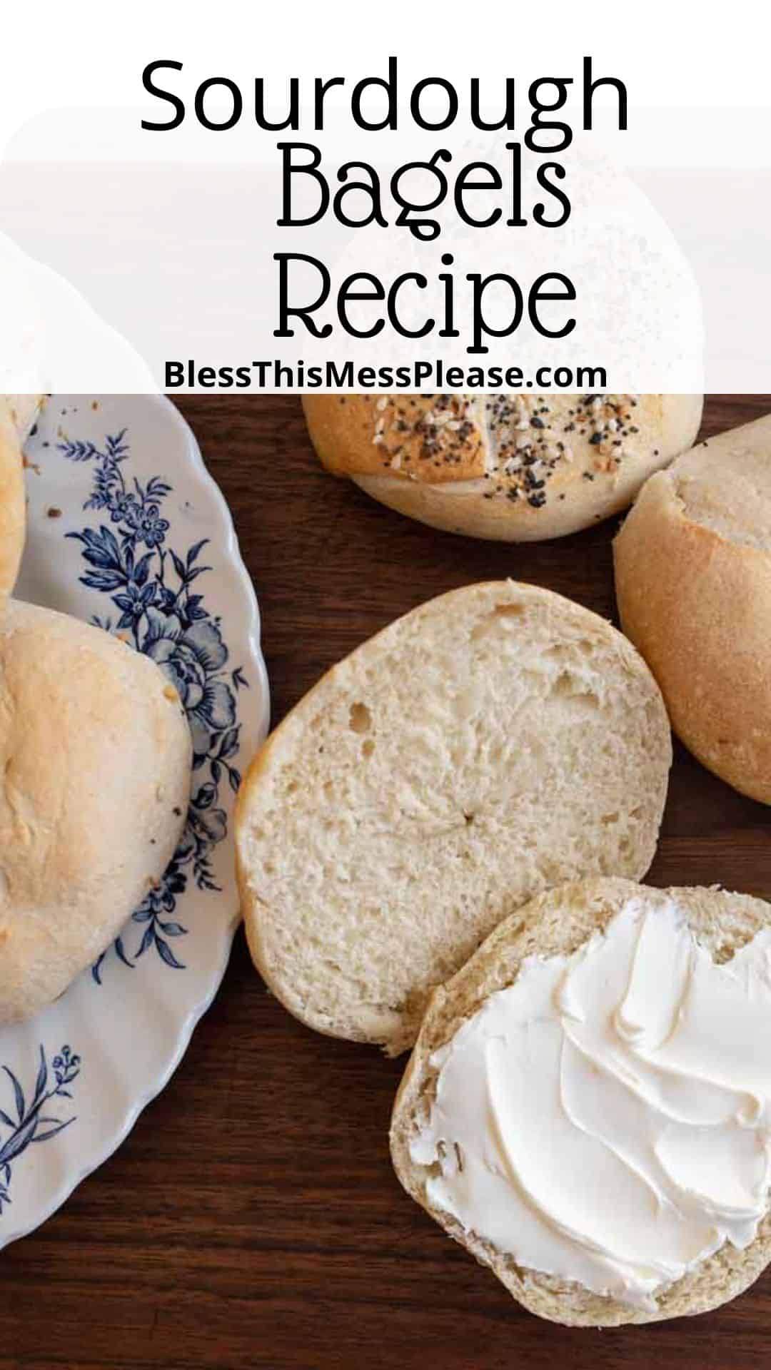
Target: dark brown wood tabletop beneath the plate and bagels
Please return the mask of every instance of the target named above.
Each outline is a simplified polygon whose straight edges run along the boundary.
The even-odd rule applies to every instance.
[[[362,638],[468,581],[520,577],[615,612],[616,521],[530,547],[435,533],[322,473],[296,399],[180,408],[254,577],[273,722]],[[771,396],[713,396],[704,434],[768,410]],[[650,881],[768,895],[770,821],[678,749]],[[169,1088],[49,1222],[0,1255],[0,1370],[771,1363],[771,1271],[715,1314],[649,1328],[567,1330],[523,1312],[392,1174],[402,1069],[289,1018],[239,934]]]

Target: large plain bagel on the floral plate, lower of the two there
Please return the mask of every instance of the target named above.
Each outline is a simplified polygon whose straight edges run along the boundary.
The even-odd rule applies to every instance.
[[[56,999],[162,878],[192,744],[150,658],[51,610],[0,616],[0,1023]]]

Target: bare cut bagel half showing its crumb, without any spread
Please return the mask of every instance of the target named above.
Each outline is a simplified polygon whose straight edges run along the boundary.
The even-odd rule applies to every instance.
[[[519,904],[648,870],[671,759],[656,682],[597,614],[514,581],[421,604],[332,667],[244,777],[258,970],[310,1028],[403,1051]]]

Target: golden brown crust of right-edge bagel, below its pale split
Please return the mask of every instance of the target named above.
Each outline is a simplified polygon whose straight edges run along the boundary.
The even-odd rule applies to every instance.
[[[675,733],[709,770],[771,804],[771,553],[689,518],[676,467],[645,485],[613,553],[623,629]]]

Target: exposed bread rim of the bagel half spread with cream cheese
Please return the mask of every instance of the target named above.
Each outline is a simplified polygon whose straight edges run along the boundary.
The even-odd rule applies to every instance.
[[[698,1260],[679,1278],[665,1282],[648,1307],[641,1307],[609,1293],[591,1292],[564,1273],[545,1273],[532,1266],[528,1267],[521,1259],[521,1251],[517,1251],[517,1241],[521,1240],[519,1230],[510,1229],[512,1244],[509,1245],[491,1240],[490,1233],[483,1234],[464,1226],[457,1214],[436,1201],[436,1189],[432,1188],[432,1180],[436,1178],[439,1169],[436,1162],[431,1162],[425,1154],[421,1155],[423,1148],[416,1151],[414,1143],[429,1118],[438,1093],[438,1075],[446,1044],[480,1010],[488,1007],[498,992],[505,992],[516,985],[519,977],[523,975],[523,967],[531,966],[535,960],[547,963],[550,958],[568,958],[579,952],[593,934],[601,937],[606,933],[610,919],[630,900],[650,910],[653,918],[657,917],[657,908],[663,901],[674,900],[685,915],[687,927],[698,945],[716,963],[730,962],[735,952],[739,952],[756,934],[767,933],[771,925],[771,906],[763,900],[716,889],[654,891],[630,884],[626,880],[586,880],[541,895],[501,923],[457,975],[434,993],[391,1119],[391,1155],[396,1174],[407,1193],[440,1223],[450,1237],[476,1256],[480,1265],[490,1267],[519,1303],[542,1318],[568,1326],[608,1328],[621,1323],[659,1322],[683,1314],[705,1312],[746,1289],[753,1280],[757,1280],[771,1258],[771,1212],[766,1207],[752,1240],[748,1238],[744,1245],[734,1245],[726,1240],[712,1255]],[[680,1007],[680,1011],[687,1014],[687,1006],[685,1010]],[[535,1055],[534,1043],[530,1044],[530,1049]],[[600,1077],[601,1074],[602,1067],[598,1070]],[[609,1075],[613,1077],[612,1069]],[[617,1078],[621,1081],[627,1078],[623,1074],[623,1062],[617,1066]],[[638,1080],[634,1073],[628,1078],[631,1082],[630,1099],[632,1099]],[[709,1085],[707,1086],[709,1088]],[[591,1086],[586,1088],[582,1097],[587,1095],[591,1095]],[[490,1104],[488,1108],[493,1112]],[[483,1111],[479,1110],[479,1114]],[[634,1117],[635,1114],[632,1114]],[[597,1114],[594,1118],[597,1121]],[[687,1115],[685,1121],[687,1121]],[[676,1114],[674,1111],[669,1126],[676,1133]],[[693,1128],[687,1138],[689,1147],[698,1143],[697,1134],[698,1129]],[[645,1125],[641,1125],[638,1136],[641,1140],[645,1138]],[[443,1145],[451,1164],[453,1149],[454,1145],[457,1147],[457,1143],[453,1144],[451,1133],[446,1136]],[[545,1138],[542,1154],[547,1169],[549,1164],[553,1164],[549,1137]],[[686,1174],[693,1177],[694,1189],[690,1191],[693,1196],[697,1193],[696,1186],[704,1171],[698,1169],[697,1155],[693,1152],[689,1155],[693,1158],[693,1169]],[[564,1166],[564,1155],[561,1159]],[[612,1166],[613,1159],[613,1152],[608,1148],[605,1155],[608,1167]],[[497,1158],[490,1159],[488,1164],[494,1166],[495,1160]],[[458,1152],[457,1164],[462,1169],[462,1152]],[[579,1164],[576,1155],[576,1167]],[[733,1174],[727,1162],[724,1162],[724,1170],[730,1192]],[[517,1174],[516,1169],[499,1171],[503,1177],[508,1173]],[[560,1173],[571,1177],[569,1169],[562,1169]],[[572,1173],[572,1180],[584,1196],[591,1193],[587,1177],[579,1169]],[[471,1180],[466,1178],[466,1184],[469,1184],[471,1191]],[[568,1188],[569,1184],[568,1178]],[[550,1189],[546,1192],[551,1195]],[[685,1193],[687,1195],[687,1192],[689,1186],[686,1185]],[[667,1200],[663,1199],[661,1207],[665,1207],[665,1203]],[[768,1195],[766,1195],[766,1206],[767,1203]],[[602,1197],[600,1197],[597,1207],[602,1210]],[[659,1211],[661,1212],[661,1208]],[[561,1230],[568,1237],[573,1234],[569,1225]],[[601,1252],[602,1247],[594,1247],[594,1249]]]

